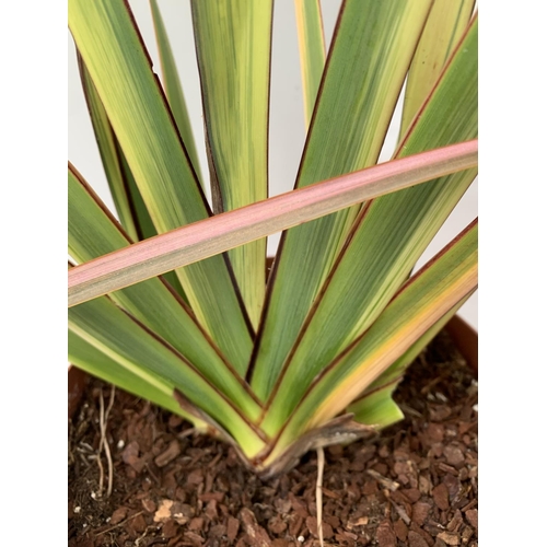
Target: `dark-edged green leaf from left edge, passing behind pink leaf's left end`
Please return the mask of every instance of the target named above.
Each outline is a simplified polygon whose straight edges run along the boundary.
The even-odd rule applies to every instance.
[[[68,185],[70,255],[79,261],[88,261],[118,248],[128,248],[131,243],[128,236],[71,166]],[[256,419],[259,406],[242,377],[163,281],[150,279],[113,293],[112,299],[173,346],[246,416]]]

